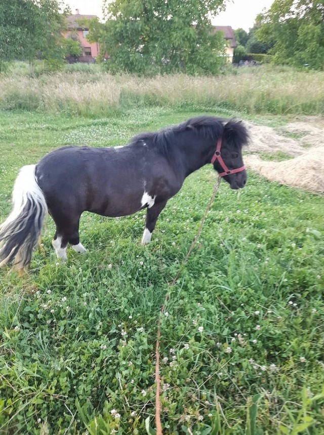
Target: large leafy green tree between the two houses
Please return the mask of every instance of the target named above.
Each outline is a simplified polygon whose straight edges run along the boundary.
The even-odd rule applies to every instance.
[[[107,2],[107,0],[106,0]],[[96,37],[112,71],[216,73],[223,35],[210,18],[226,0],[114,0]]]

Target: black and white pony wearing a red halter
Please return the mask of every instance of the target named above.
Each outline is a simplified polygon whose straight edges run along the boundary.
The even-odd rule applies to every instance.
[[[248,141],[239,121],[213,116],[191,118],[178,126],[135,136],[121,147],[67,146],[24,166],[13,190],[13,211],[0,227],[0,266],[12,260],[22,270],[30,263],[47,212],[56,224],[53,247],[66,259],[68,243],[79,241],[84,211],[126,216],[146,208],[142,243],[150,242],[158,215],[184,179],[204,165],[232,189],[244,187],[242,146]]]

